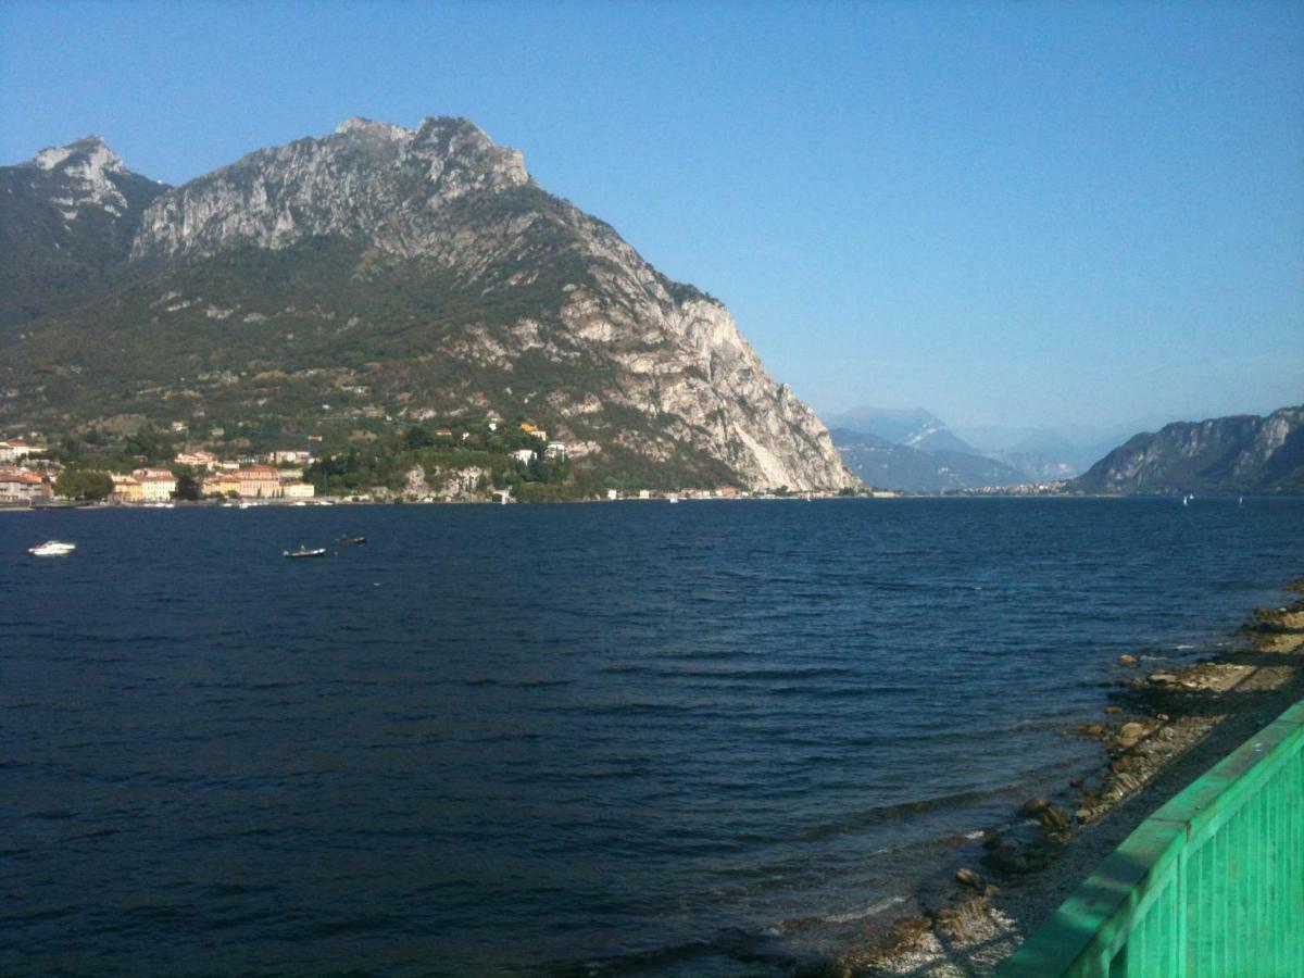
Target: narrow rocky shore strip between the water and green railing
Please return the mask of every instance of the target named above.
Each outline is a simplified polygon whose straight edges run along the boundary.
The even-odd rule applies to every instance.
[[[1099,741],[1101,765],[957,852],[921,887],[922,913],[867,935],[823,974],[991,974],[1142,820],[1304,698],[1304,579],[1284,591],[1291,604],[1257,609],[1204,661],[1148,670],[1121,656],[1101,721],[1064,732]]]

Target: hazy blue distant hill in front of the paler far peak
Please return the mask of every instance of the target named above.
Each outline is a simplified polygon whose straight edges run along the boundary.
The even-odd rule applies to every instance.
[[[850,469],[879,489],[940,493],[1028,481],[1022,472],[981,455],[923,451],[846,428],[835,428],[831,434]]]

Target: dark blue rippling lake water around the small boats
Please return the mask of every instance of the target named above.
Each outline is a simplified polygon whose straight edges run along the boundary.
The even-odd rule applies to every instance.
[[[1089,767],[1120,653],[1279,604],[1304,501],[27,512],[0,554],[0,973],[781,975]]]

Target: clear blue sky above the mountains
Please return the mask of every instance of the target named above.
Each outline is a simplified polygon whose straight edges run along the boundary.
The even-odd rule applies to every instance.
[[[0,163],[476,120],[822,412],[1304,402],[1300,3],[0,4]]]

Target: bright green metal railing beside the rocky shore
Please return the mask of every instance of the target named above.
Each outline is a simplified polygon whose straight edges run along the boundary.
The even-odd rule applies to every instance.
[[[1304,977],[1304,702],[1141,823],[998,974]]]

